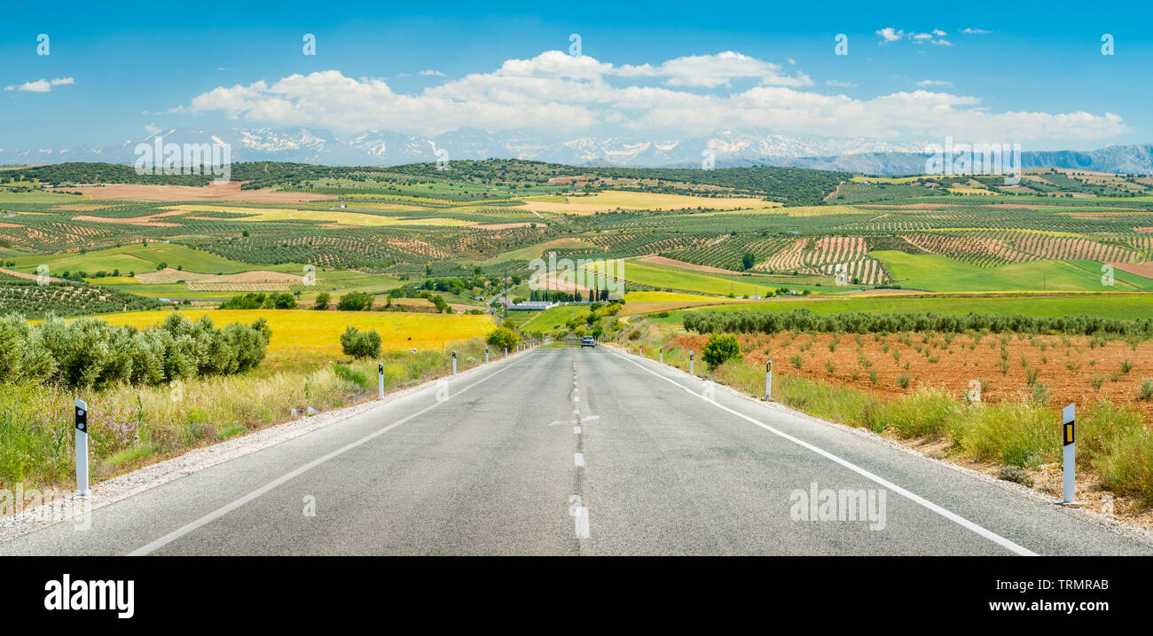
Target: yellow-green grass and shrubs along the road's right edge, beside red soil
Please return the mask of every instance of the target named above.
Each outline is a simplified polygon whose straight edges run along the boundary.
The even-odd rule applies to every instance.
[[[665,364],[688,370],[692,346],[648,326],[638,325],[633,330],[645,333],[646,338],[631,339],[623,333],[621,344],[635,351],[635,346],[642,343],[646,357],[650,358],[657,357],[660,347]],[[909,335],[917,338],[910,339]],[[876,393],[864,388],[879,381],[873,363],[865,357],[858,361],[853,371],[849,371],[859,378],[861,386],[806,377],[807,373],[831,376],[835,371],[844,372],[831,362],[823,368],[815,368],[809,362],[811,353],[814,353],[811,338],[806,332],[787,332],[782,334],[777,344],[769,346],[770,349],[777,348],[777,356],[782,355],[782,344],[793,347],[794,341],[799,342],[801,350],[790,356],[791,365],[775,365],[774,400],[831,422],[867,429],[917,446],[928,445],[937,456],[988,467],[993,474],[1016,475],[1012,470],[1005,471],[1005,467],[1032,474],[1060,469],[1062,446],[1058,423],[1063,403],[1050,400],[1043,383],[1037,381],[1032,391],[993,402],[982,401],[980,393],[973,389],[950,391],[929,384],[911,386],[911,376],[904,376],[903,386],[902,377],[891,380],[902,388],[909,388],[907,392]],[[915,346],[921,334],[906,333],[897,338],[907,339],[911,346]],[[941,339],[941,334],[934,338]],[[860,339],[860,334],[842,333],[841,342],[826,349],[857,347],[864,342]],[[994,335],[986,339],[994,346],[1001,344]],[[940,342],[943,344],[943,341]],[[1041,341],[1037,343],[1045,346]],[[1094,346],[1103,347],[1105,341]],[[696,365],[698,376],[753,396],[763,396],[763,359],[770,351],[762,348],[752,351],[754,355],[749,357],[746,355],[749,351],[740,350],[734,335],[721,332],[711,333],[701,351],[708,364]],[[811,366],[814,369],[811,370]],[[1117,373],[1124,374],[1123,371]],[[1143,380],[1140,387],[1146,384],[1153,385],[1153,380]],[[980,385],[978,383],[974,388]],[[1148,508],[1153,507],[1153,429],[1146,414],[1136,406],[1144,400],[1143,391],[1138,388],[1126,402],[1103,396],[1078,400],[1077,463],[1083,479],[1095,476],[1100,487],[1132,498],[1139,507]],[[1153,392],[1153,386],[1150,391]],[[1049,493],[1060,494],[1056,491]]]

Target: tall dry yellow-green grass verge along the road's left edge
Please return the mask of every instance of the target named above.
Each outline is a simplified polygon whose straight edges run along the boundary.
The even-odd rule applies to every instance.
[[[452,342],[461,369],[484,362],[484,341]],[[0,489],[68,484],[75,474],[73,400],[89,404],[93,480],[186,449],[256,431],[308,412],[444,376],[447,350],[392,350],[376,358],[336,357],[307,369],[193,376],[168,384],[112,383],[104,388],[0,381]],[[312,409],[311,411],[309,409]]]

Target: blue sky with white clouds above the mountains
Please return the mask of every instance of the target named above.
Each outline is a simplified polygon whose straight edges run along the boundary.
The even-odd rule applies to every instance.
[[[1153,9],[1143,2],[241,6],[6,8],[0,149],[263,126],[763,128],[1025,150],[1153,142]],[[37,55],[39,33],[50,55]],[[302,54],[304,33],[317,38],[315,56]],[[847,55],[835,54],[837,33]],[[1102,33],[1114,55],[1101,54]]]

